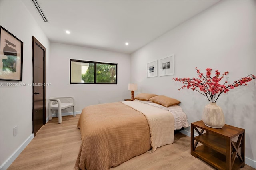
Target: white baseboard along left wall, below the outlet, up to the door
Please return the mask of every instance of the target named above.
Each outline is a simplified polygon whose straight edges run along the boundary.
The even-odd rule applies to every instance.
[[[7,170],[7,168],[12,164],[12,162],[20,155],[22,150],[28,146],[31,140],[34,138],[34,134],[32,133],[22,145],[1,165],[0,170]]]

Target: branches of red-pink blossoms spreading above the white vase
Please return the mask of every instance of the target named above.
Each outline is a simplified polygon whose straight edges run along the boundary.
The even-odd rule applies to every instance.
[[[227,85],[227,81],[224,84],[220,84],[220,81],[224,78],[225,75],[228,75],[228,71],[220,76],[220,72],[218,70],[215,71],[215,76],[211,77],[212,69],[206,69],[206,76],[200,72],[196,67],[196,71],[198,73],[199,78],[173,78],[175,81],[180,81],[184,85],[180,89],[192,89],[193,91],[197,91],[198,93],[207,97],[209,102],[215,103],[217,99],[220,97],[222,93],[227,93],[230,89],[234,89],[238,86],[245,86],[246,83],[252,81],[252,79],[256,79],[255,75],[250,74],[246,77],[242,77],[238,81],[234,81],[234,83]],[[180,90],[179,89],[179,90]]]

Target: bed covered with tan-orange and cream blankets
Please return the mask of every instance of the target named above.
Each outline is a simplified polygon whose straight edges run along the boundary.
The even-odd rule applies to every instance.
[[[82,144],[75,170],[107,170],[172,144],[174,130],[189,126],[186,114],[178,105],[166,107],[171,112],[149,99],[85,107],[77,125]]]

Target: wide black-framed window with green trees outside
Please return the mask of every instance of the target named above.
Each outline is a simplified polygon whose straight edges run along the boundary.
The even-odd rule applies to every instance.
[[[117,84],[117,64],[70,59],[70,84]]]

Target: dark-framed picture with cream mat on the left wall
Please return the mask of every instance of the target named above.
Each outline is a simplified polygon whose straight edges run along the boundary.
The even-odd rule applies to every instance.
[[[0,26],[0,80],[22,81],[23,42]]]

